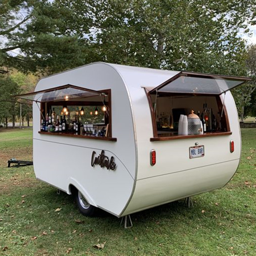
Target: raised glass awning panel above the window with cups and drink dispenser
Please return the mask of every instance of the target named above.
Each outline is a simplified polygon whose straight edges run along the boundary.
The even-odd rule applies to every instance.
[[[219,76],[193,72],[180,72],[150,91],[219,95],[251,80],[249,77]]]

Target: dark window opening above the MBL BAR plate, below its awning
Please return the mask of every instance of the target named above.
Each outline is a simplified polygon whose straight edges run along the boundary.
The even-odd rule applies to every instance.
[[[152,103],[154,102],[153,119],[155,119],[156,137],[210,135],[230,132],[228,117],[219,96],[160,93],[158,95],[150,95],[150,100]],[[188,127],[187,134],[182,134],[182,132],[179,134],[180,115],[187,116],[187,118],[193,117],[194,123],[197,118],[197,129],[189,131]]]

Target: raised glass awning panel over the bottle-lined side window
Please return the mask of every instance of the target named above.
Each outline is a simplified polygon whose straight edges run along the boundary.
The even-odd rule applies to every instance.
[[[46,101],[68,101],[73,99],[87,98],[105,94],[100,91],[85,89],[75,85],[67,84],[63,86],[54,87],[47,90],[16,95],[15,97],[25,100],[32,100],[36,102]]]

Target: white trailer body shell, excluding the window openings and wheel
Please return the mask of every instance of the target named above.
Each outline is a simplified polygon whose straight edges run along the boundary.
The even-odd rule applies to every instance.
[[[208,92],[200,87],[200,83],[198,87],[185,84],[185,89],[181,86],[184,90],[175,84],[172,86],[172,82],[187,77],[202,78],[205,83],[214,81],[218,85],[217,91],[211,89]],[[45,77],[36,85],[36,101],[33,103],[36,178],[68,194],[71,194],[73,186],[90,205],[118,217],[221,188],[235,174],[241,155],[236,105],[228,90],[246,80],[245,77],[211,76],[101,62]],[[57,91],[68,84],[99,92],[111,91],[109,140],[40,132],[44,93]],[[183,95],[186,100],[182,100]],[[217,98],[219,100],[216,101]],[[157,108],[161,115],[161,108],[169,104],[172,114],[171,108],[180,109],[183,105],[187,109],[189,102],[191,106],[194,104],[201,108],[205,99],[216,116],[217,112],[218,116],[225,116],[222,130],[217,131],[216,128],[216,132],[190,136],[164,136],[164,131],[158,131]],[[171,120],[174,114],[171,114],[169,124],[174,123],[174,119]],[[235,145],[232,153],[231,142]],[[204,146],[204,156],[190,158],[189,148],[197,145]],[[150,162],[151,150],[156,152],[154,165]],[[108,165],[110,162],[100,166],[100,154],[105,156],[105,160],[110,161],[112,157],[114,170]]]

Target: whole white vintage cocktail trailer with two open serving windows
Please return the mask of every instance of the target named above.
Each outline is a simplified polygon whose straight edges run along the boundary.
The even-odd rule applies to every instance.
[[[75,194],[85,215],[98,207],[117,217],[221,188],[241,155],[229,90],[247,80],[102,62],[42,78],[20,95],[34,100],[36,178]],[[206,131],[178,135],[192,109]],[[53,114],[66,114],[66,130]]]

